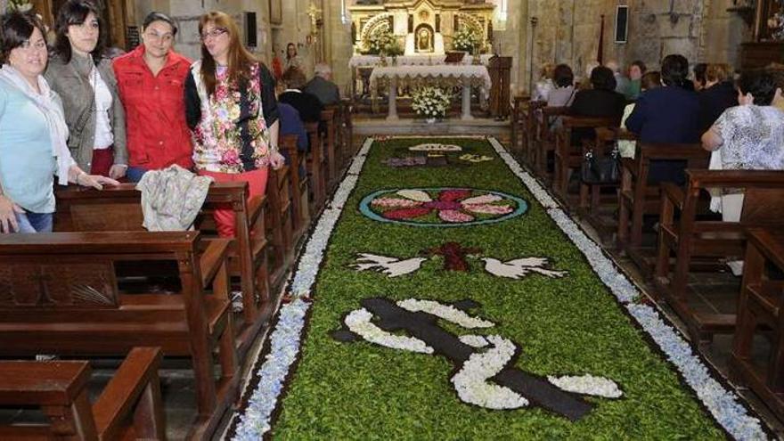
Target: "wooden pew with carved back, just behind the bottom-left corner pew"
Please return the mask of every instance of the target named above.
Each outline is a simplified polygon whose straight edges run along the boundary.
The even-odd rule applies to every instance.
[[[0,234],[0,355],[125,355],[155,345],[187,356],[198,408],[191,435],[209,437],[239,394],[229,241],[200,240],[194,232]],[[176,262],[180,290],[121,292],[115,266],[127,261]]]

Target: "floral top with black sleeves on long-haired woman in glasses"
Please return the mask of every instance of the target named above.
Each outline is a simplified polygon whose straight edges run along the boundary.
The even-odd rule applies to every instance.
[[[269,130],[279,118],[275,83],[264,64],[250,67],[247,81],[230,82],[216,72],[215,94],[207,94],[201,61],[185,79],[185,114],[193,135],[197,170],[237,174],[269,165]]]

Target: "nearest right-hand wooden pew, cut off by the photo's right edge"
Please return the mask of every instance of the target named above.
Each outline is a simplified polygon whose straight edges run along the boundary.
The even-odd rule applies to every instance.
[[[754,391],[784,419],[784,281],[772,278],[766,269],[773,266],[784,272],[784,235],[780,229],[749,229],[747,237],[730,378]],[[771,348],[766,363],[755,363],[754,337],[763,332]]]

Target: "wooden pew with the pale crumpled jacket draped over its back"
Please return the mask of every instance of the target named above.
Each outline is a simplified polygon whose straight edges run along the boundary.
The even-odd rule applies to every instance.
[[[142,193],[135,184],[107,186],[102,191],[84,187],[61,187],[55,192],[57,211],[54,230],[59,232],[145,231]],[[213,229],[211,212],[231,208],[237,237],[229,247],[229,270],[239,276],[242,290],[241,323],[236,323],[241,358],[253,344],[265,319],[272,314],[267,269],[266,198],[248,200],[246,183],[213,183],[204,201],[204,215],[197,218],[200,230]]]

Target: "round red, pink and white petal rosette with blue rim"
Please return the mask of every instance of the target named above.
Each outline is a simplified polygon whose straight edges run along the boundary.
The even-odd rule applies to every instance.
[[[501,222],[526,212],[527,202],[502,192],[468,188],[381,190],[366,196],[365,216],[415,226],[467,226]]]

